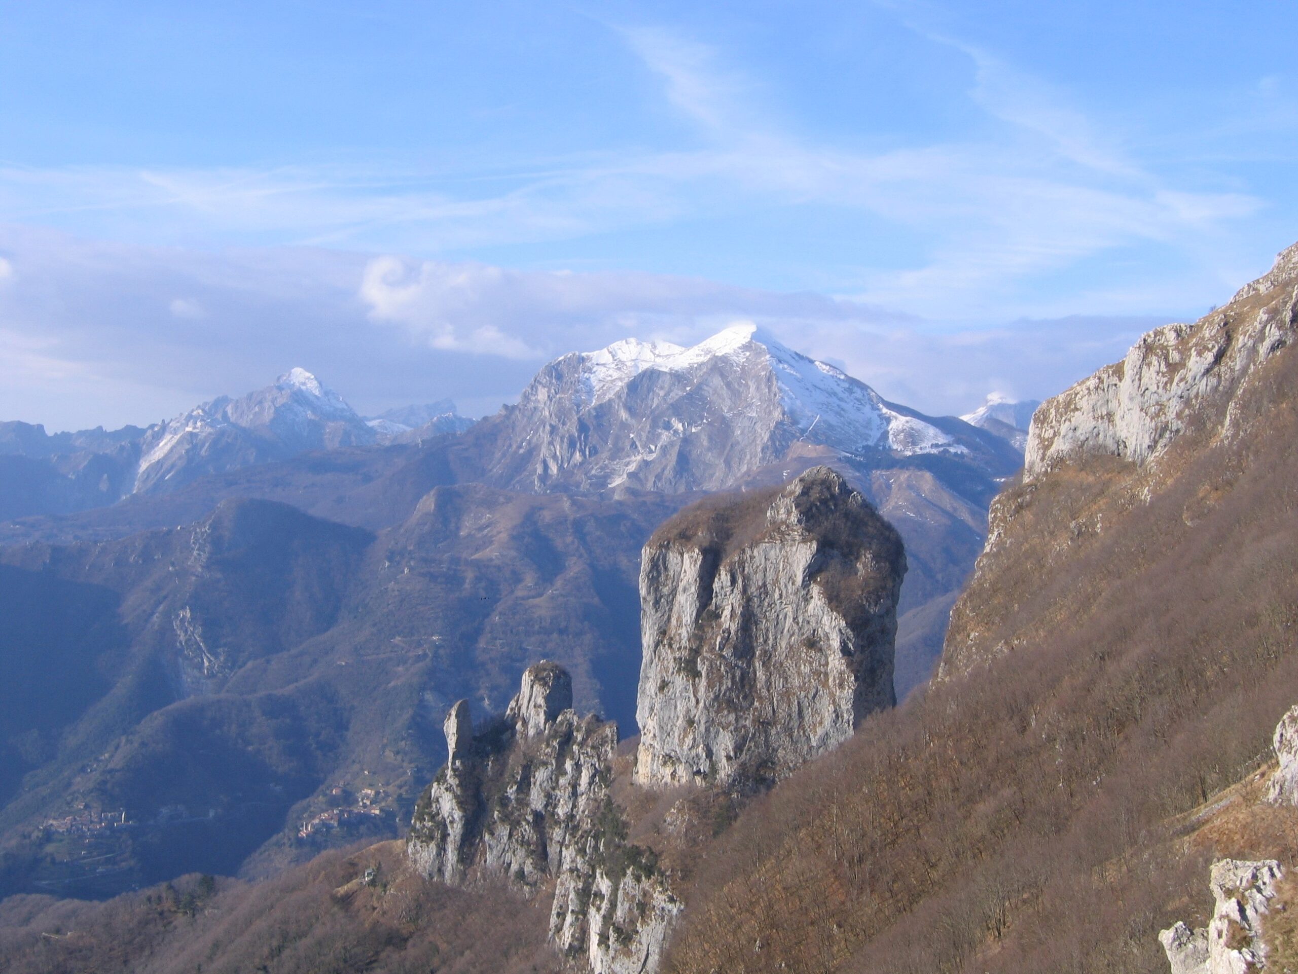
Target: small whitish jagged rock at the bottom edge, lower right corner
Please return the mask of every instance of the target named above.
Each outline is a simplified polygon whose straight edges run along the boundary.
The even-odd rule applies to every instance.
[[[1172,974],[1249,974],[1267,968],[1262,921],[1282,873],[1275,860],[1212,864],[1212,919],[1206,929],[1176,923],[1158,935]]]

